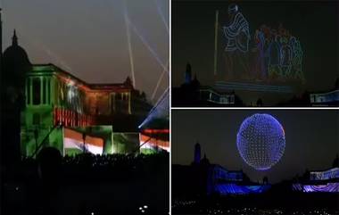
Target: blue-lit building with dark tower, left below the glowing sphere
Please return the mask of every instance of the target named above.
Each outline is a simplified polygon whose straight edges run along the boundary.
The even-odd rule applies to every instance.
[[[200,150],[200,145],[194,145],[192,165],[172,165],[172,185],[175,185],[172,186],[175,189],[172,193],[175,195],[260,194],[271,187],[268,183],[252,182],[243,170],[227,170],[219,164],[210,163],[206,154],[197,161]]]

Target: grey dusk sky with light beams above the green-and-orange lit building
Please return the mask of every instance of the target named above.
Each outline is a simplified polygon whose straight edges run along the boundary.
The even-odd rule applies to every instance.
[[[131,76],[124,2],[130,21],[166,65],[170,44],[167,0],[0,0],[3,48],[12,43],[16,29],[19,44],[32,63],[53,62],[90,83],[122,82]],[[163,69],[135,31],[130,32],[136,88],[151,97]],[[169,79],[163,76],[156,98],[169,86]]]

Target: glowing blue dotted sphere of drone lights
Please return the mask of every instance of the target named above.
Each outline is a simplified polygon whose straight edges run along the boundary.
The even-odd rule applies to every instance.
[[[244,161],[255,170],[269,170],[285,151],[285,131],[269,114],[254,114],[244,120],[236,136]]]

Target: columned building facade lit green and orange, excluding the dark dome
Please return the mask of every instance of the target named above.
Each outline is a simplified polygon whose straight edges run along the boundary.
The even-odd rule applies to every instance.
[[[26,74],[26,103],[21,113],[21,153],[33,153],[37,143],[42,141],[63,152],[64,147],[76,145],[74,143],[81,145],[83,141],[79,128],[112,127],[116,115],[133,113],[133,91],[135,89],[129,78],[121,84],[87,84],[53,64],[33,65],[32,70]],[[59,124],[63,128],[55,128]],[[72,136],[77,136],[75,132],[81,138],[67,136],[73,133]],[[89,139],[94,135],[93,129],[86,133],[88,136],[84,136],[85,145],[89,147]],[[103,148],[103,138],[101,139]],[[72,141],[73,144],[70,143]],[[78,148],[82,149],[80,146]]]

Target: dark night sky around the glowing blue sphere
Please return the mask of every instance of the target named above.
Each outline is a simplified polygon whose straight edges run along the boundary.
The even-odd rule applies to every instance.
[[[285,128],[285,153],[270,170],[253,170],[236,148],[236,134],[245,118],[269,113]],[[327,170],[339,153],[337,110],[173,110],[172,163],[190,164],[198,141],[211,163],[244,170],[254,181],[270,182],[300,176],[306,169]]]

